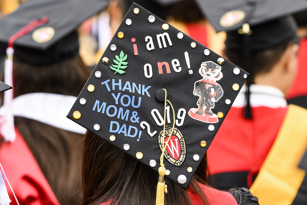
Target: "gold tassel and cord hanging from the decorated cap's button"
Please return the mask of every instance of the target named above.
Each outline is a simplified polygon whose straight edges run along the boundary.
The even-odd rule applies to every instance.
[[[163,159],[164,159],[164,152],[166,150],[166,146],[169,143],[169,140],[171,139],[171,136],[173,134],[174,127],[175,127],[175,111],[174,111],[172,103],[169,102],[169,100],[166,99],[166,96],[167,96],[166,90],[164,88],[163,88],[163,90],[165,91],[164,124],[163,124],[164,139],[165,139],[166,102],[169,103],[169,105],[172,107],[172,110],[173,110],[173,127],[170,130],[170,133],[169,133],[169,136],[168,136],[169,138],[167,139],[166,143],[164,144],[163,149],[162,149],[162,153],[161,153],[161,156],[160,156],[160,166],[161,167],[159,167],[159,169],[158,169],[159,181],[158,181],[158,184],[157,184],[156,205],[164,205],[164,193],[167,193],[167,185],[165,184],[165,181],[164,181],[164,175],[165,175],[166,169],[165,169],[164,164],[163,164]],[[164,140],[163,140],[163,142],[164,142]]]

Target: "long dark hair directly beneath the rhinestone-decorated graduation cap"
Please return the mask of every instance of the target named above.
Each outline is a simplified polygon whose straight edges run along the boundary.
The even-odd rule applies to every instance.
[[[205,205],[208,201],[199,183],[207,184],[208,175],[205,156],[188,187],[189,191],[200,196]],[[111,205],[153,205],[158,177],[153,169],[87,131],[82,162],[82,205],[99,205],[111,200]],[[165,194],[166,205],[192,204],[183,188],[164,179],[168,189]]]

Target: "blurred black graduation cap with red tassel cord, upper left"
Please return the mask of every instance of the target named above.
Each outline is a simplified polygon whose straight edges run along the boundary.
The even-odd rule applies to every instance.
[[[79,54],[76,28],[107,5],[103,0],[29,0],[22,3],[0,20],[0,56],[5,55],[9,39],[27,25],[29,33],[17,36],[14,41],[14,59],[47,64],[72,58]]]

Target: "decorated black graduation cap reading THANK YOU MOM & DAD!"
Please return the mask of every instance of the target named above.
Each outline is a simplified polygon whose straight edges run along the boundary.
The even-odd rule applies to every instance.
[[[133,3],[67,117],[187,189],[247,75]]]

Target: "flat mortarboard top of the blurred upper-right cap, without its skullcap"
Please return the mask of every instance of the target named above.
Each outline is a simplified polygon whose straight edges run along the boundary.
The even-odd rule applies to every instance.
[[[232,31],[277,19],[307,8],[306,0],[196,0],[216,32]]]

